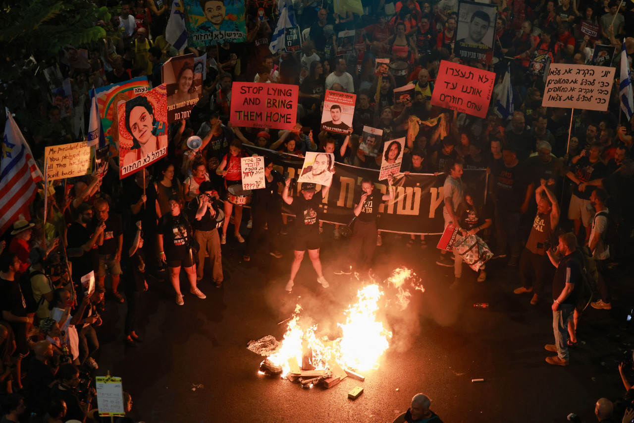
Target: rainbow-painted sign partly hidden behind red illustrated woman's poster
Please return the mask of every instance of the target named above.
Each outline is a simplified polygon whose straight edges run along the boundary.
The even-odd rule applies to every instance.
[[[146,76],[139,76],[120,84],[95,88],[94,93],[97,97],[101,128],[106,138],[106,144],[119,144],[118,105],[141,93],[145,93],[149,89],[150,84],[148,84]],[[116,150],[113,150],[112,153],[115,157],[118,155]]]

